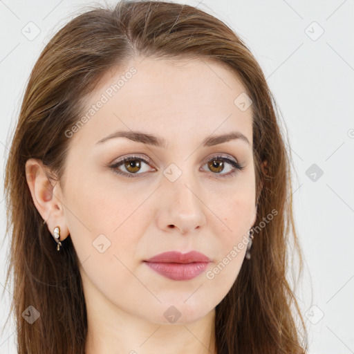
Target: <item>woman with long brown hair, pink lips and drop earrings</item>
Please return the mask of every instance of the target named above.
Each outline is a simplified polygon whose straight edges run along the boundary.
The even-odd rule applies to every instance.
[[[59,30],[6,169],[18,353],[305,353],[275,108],[197,8],[122,1]]]

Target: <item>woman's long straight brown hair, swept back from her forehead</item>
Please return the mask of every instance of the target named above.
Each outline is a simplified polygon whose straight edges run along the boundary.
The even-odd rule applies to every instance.
[[[198,8],[164,1],[91,8],[55,34],[32,69],[5,178],[6,233],[11,234],[6,284],[13,272],[10,314],[18,353],[84,354],[87,331],[73,243],[68,237],[64,249],[55,250],[26,183],[26,160],[44,162],[53,171],[48,178],[60,183],[68,151],[65,131],[80,118],[84,97],[106,71],[138,55],[213,60],[241,78],[253,102],[255,225],[264,227],[256,230],[252,258],[216,306],[216,346],[218,354],[305,353],[304,320],[286,279],[289,245],[299,256],[298,274],[302,261],[292,216],[291,155],[277,104],[250,49],[229,27]],[[272,210],[277,216],[265,223]],[[22,315],[28,306],[40,314],[33,324]]]

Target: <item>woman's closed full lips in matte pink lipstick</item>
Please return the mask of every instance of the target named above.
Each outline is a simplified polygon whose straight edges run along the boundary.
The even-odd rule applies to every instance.
[[[164,252],[147,259],[145,263],[152,270],[172,280],[189,280],[205,272],[211,260],[205,254],[191,251],[188,253]]]

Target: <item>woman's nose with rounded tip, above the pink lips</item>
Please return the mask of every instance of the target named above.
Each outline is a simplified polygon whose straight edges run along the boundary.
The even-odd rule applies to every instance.
[[[206,206],[201,189],[182,176],[173,183],[167,179],[162,183],[158,226],[167,232],[178,229],[187,234],[205,225]]]

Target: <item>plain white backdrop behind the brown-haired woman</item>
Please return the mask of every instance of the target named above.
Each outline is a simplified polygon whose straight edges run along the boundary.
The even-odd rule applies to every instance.
[[[225,21],[261,64],[294,162],[294,214],[306,262],[297,299],[308,326],[309,353],[354,353],[354,1],[176,2]],[[50,37],[91,4],[0,1],[1,185],[32,66]],[[8,253],[5,225],[1,187],[1,291]],[[10,296],[6,289],[1,298],[1,328]],[[5,353],[16,353],[13,322],[0,337],[0,354]]]

